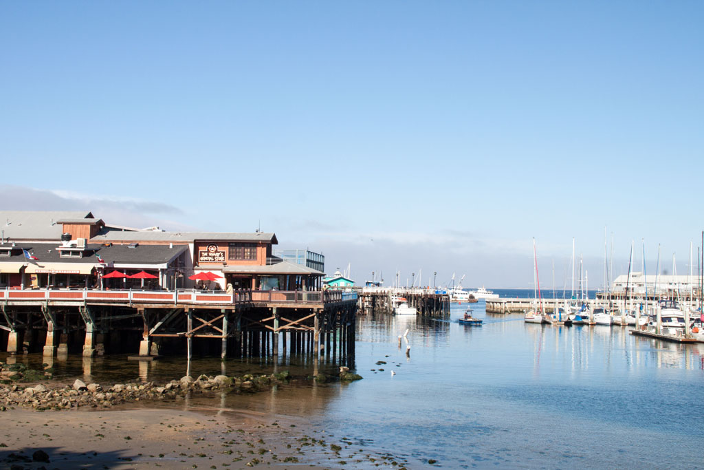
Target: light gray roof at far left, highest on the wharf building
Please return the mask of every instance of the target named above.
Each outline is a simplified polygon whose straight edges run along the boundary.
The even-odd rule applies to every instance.
[[[0,211],[5,240],[61,240],[62,219],[93,218],[89,211]]]

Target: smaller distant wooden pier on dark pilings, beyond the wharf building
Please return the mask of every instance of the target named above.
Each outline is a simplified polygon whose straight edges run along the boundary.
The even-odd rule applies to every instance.
[[[391,298],[403,297],[410,307],[422,316],[444,318],[450,316],[450,296],[434,289],[408,289],[394,287],[365,287],[359,294],[359,307],[363,312],[391,311]]]

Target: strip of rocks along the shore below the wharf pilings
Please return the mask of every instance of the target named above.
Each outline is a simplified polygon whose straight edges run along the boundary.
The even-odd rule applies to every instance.
[[[346,367],[340,368],[340,381],[356,381],[361,377],[350,373]],[[44,379],[44,380],[37,380]],[[311,378],[325,382],[329,377],[319,374]],[[269,376],[205,376],[194,379],[184,376],[168,383],[116,383],[104,386],[99,383],[84,383],[76,379],[73,385],[51,383],[51,373],[27,369],[23,364],[7,365],[0,363],[0,411],[8,408],[24,407],[39,411],[49,409],[72,409],[80,407],[111,408],[118,404],[149,402],[156,400],[178,400],[187,395],[208,394],[216,391],[257,392],[268,390],[274,385],[282,385],[294,380],[288,371]],[[37,382],[23,386],[19,383]]]

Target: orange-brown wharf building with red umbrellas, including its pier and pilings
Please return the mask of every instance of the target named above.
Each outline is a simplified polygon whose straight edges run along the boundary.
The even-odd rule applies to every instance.
[[[347,361],[356,294],[324,258],[275,256],[274,233],[167,232],[88,211],[0,211],[0,348]]]

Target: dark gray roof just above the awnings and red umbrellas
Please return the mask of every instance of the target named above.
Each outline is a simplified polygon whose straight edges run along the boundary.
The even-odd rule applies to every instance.
[[[6,248],[8,244],[0,245],[0,248]],[[176,256],[188,251],[188,247],[175,246],[169,248],[168,245],[139,245],[136,248],[127,247],[127,245],[113,245],[111,247],[103,247],[102,245],[89,244],[83,256],[80,258],[62,258],[58,252],[58,243],[29,243],[17,242],[13,249],[12,255],[9,257],[1,257],[1,262],[11,261],[32,263],[32,260],[26,259],[22,249],[26,249],[33,256],[39,258],[42,263],[95,263],[99,264],[96,252],[100,254],[103,261],[107,264],[164,264],[172,261]]]

